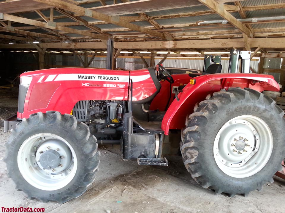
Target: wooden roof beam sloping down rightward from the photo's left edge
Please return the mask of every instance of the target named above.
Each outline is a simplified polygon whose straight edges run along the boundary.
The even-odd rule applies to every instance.
[[[70,3],[68,3],[68,4],[70,4]],[[78,7],[78,6],[76,6],[76,7]],[[47,23],[44,23],[44,22],[35,21],[35,20],[22,18],[22,17],[17,17],[17,16],[13,16],[13,15],[9,15],[9,14],[3,14],[3,16],[4,16],[4,18],[3,18],[4,20],[19,22],[19,23],[23,23],[23,24],[29,24],[29,25],[34,25],[34,26],[48,28],[48,29],[53,29],[53,30],[61,30],[61,31],[69,32],[69,33],[75,33],[75,34],[78,34],[78,35],[85,35],[85,36],[89,36],[91,38],[99,38],[99,39],[103,39],[103,40],[106,40],[108,38],[105,35],[89,33],[89,32],[85,32],[84,30],[76,30],[76,29],[63,27],[63,26],[53,27],[53,26],[50,26],[50,25],[48,25]]]

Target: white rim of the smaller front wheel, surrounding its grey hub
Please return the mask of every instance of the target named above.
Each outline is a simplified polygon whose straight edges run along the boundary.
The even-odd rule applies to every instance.
[[[45,169],[40,156],[46,150],[56,151],[60,164],[55,168]],[[72,146],[58,135],[40,133],[26,139],[18,152],[18,168],[23,178],[32,186],[46,191],[53,191],[66,186],[77,171],[77,157]]]

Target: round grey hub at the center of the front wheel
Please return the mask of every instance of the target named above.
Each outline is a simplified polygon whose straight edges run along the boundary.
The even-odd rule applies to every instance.
[[[60,164],[60,161],[60,154],[53,149],[46,150],[39,158],[40,164],[46,170],[56,168]]]

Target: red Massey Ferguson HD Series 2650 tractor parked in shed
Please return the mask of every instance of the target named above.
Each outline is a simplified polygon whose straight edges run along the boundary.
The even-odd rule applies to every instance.
[[[167,155],[181,153],[189,178],[217,194],[261,190],[285,154],[284,112],[261,93],[279,85],[271,75],[220,73],[220,64],[205,71],[21,74],[8,176],[29,198],[64,203],[94,181],[98,144],[120,144],[123,159],[140,165],[167,166]]]

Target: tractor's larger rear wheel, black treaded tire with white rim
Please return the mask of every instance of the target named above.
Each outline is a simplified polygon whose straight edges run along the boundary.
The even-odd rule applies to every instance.
[[[255,90],[229,88],[186,117],[180,149],[186,169],[204,188],[248,195],[281,169],[284,112]]]

